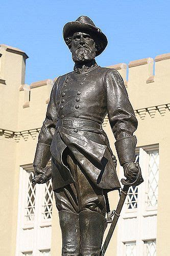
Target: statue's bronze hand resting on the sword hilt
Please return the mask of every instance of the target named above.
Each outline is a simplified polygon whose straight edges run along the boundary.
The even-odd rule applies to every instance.
[[[135,181],[137,174],[139,172],[138,163],[135,163],[135,162],[125,163],[123,165],[123,168],[124,168],[125,177],[131,182]]]

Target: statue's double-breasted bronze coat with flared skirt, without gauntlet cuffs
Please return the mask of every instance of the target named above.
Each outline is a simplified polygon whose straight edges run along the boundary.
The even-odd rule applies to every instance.
[[[66,163],[67,149],[94,185],[107,190],[120,187],[113,153],[101,126],[106,114],[116,140],[133,135],[137,120],[116,70],[101,68],[96,63],[90,68],[75,66],[73,72],[57,79],[38,140],[51,145],[54,190],[73,182]],[[69,119],[91,123],[79,127],[60,125],[61,120]]]

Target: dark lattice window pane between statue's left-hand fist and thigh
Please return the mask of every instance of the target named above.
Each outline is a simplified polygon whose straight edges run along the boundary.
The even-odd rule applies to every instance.
[[[53,189],[52,189],[52,181],[48,181],[45,183],[45,193],[44,193],[44,204],[42,205],[42,215],[43,219],[51,219],[52,218],[52,207],[53,207]]]

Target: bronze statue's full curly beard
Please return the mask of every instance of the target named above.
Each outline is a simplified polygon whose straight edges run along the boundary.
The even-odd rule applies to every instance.
[[[77,49],[72,51],[72,60],[74,62],[88,62],[95,58],[95,47],[93,49]]]

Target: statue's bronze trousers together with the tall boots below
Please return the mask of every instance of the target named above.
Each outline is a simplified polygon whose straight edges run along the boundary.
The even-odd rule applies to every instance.
[[[68,151],[74,183],[55,190],[62,231],[62,256],[99,256],[106,228],[103,189],[96,187]]]

